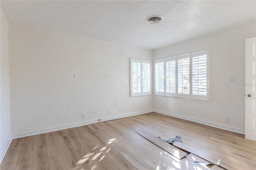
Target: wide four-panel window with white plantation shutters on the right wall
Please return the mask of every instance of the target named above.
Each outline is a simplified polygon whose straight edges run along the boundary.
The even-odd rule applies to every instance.
[[[156,95],[208,99],[208,51],[156,60]]]

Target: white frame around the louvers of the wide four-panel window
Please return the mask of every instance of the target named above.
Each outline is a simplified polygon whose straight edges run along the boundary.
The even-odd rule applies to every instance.
[[[206,95],[198,95],[198,94],[193,94],[193,72],[192,72],[192,61],[193,58],[199,57],[206,55]],[[189,94],[184,94],[184,93],[179,93],[179,84],[178,84],[178,61],[180,59],[185,59],[189,58]],[[175,60],[175,93],[169,93],[166,90],[166,81],[167,81],[167,76],[166,76],[166,63],[169,61],[174,61]],[[157,70],[156,70],[156,65],[158,63],[164,62],[164,91],[157,91],[156,83],[158,81],[158,77],[156,76]],[[205,51],[200,51],[200,52],[195,52],[195,53],[189,53],[185,55],[178,55],[175,57],[169,57],[165,59],[158,59],[155,61],[155,94],[156,95],[161,95],[161,96],[167,96],[167,97],[180,97],[180,98],[193,98],[193,99],[204,99],[204,100],[209,100],[210,99],[210,57],[209,57],[209,50]]]

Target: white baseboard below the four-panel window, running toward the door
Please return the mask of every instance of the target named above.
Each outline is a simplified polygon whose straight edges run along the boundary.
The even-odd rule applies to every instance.
[[[194,117],[190,117],[190,116],[186,116],[186,115],[180,115],[178,113],[172,113],[172,112],[168,112],[168,111],[162,111],[162,110],[158,110],[158,109],[154,109],[154,112],[160,113],[160,114],[163,114],[163,115],[172,116],[172,117],[177,117],[177,118],[180,118],[180,119],[185,119],[185,120],[196,122],[196,123],[201,123],[201,124],[208,125],[208,126],[211,126],[211,127],[216,127],[216,128],[228,130],[228,131],[231,131],[231,132],[245,134],[245,129],[244,128],[238,128],[238,127],[233,127],[233,126],[229,126],[229,125],[223,125],[223,124],[216,123],[216,122],[206,121],[204,119],[198,119],[198,118],[194,118]]]

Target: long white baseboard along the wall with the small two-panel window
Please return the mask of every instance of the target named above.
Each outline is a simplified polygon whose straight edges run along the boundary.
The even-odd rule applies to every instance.
[[[84,126],[84,125],[90,125],[93,123],[99,123],[98,119],[101,119],[100,122],[111,121],[114,119],[120,119],[120,118],[124,118],[124,117],[130,117],[130,116],[150,113],[152,111],[153,111],[153,109],[150,109],[150,110],[138,111],[138,112],[133,112],[133,113],[126,113],[123,115],[114,115],[114,116],[109,116],[109,117],[104,117],[104,118],[100,117],[100,118],[96,118],[96,119],[87,119],[84,121],[66,123],[66,124],[62,124],[62,125],[54,125],[51,127],[43,127],[43,128],[32,129],[32,130],[24,130],[21,132],[12,133],[12,138],[15,139],[15,138],[36,135],[36,134],[47,133],[47,132],[54,132],[57,130],[63,130],[63,129],[67,129],[67,128],[74,128],[74,127],[80,127],[80,126]]]

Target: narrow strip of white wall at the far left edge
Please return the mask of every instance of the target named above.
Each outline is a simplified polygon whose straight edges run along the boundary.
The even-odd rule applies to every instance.
[[[9,69],[9,40],[8,21],[1,9],[1,57],[0,57],[0,162],[6,148],[11,142],[11,114],[10,114],[10,69]]]

